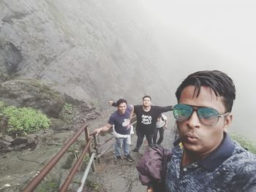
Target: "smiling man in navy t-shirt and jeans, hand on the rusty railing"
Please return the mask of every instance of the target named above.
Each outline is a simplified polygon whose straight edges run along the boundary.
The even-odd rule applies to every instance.
[[[114,126],[114,131],[116,132],[116,155],[114,158],[116,160],[121,159],[121,146],[124,150],[123,157],[127,159],[127,161],[134,161],[131,155],[129,155],[129,141],[130,141],[130,131],[131,131],[131,123],[130,119],[132,118],[134,107],[132,105],[127,106],[127,101],[124,99],[118,99],[116,101],[117,110],[113,112],[108,120],[108,124],[96,128],[94,131],[99,134],[100,131],[108,131],[112,126]]]

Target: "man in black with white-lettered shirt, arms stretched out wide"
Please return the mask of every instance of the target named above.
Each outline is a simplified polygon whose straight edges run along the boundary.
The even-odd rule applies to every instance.
[[[116,103],[110,101],[112,106]],[[133,152],[139,152],[140,146],[143,143],[144,136],[148,141],[148,146],[153,144],[153,135],[156,132],[157,117],[162,112],[172,110],[172,106],[159,107],[151,105],[151,96],[143,96],[143,104],[135,105],[134,112],[137,116],[136,134],[138,136],[136,147]]]

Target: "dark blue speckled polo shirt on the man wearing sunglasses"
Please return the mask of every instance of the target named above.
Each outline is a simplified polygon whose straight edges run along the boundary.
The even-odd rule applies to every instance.
[[[166,191],[256,191],[256,156],[225,134],[210,155],[181,167],[183,150],[173,148],[167,164]]]

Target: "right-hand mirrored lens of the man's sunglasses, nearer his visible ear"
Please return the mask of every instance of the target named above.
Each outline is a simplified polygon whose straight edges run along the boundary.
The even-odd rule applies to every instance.
[[[201,107],[197,110],[197,115],[206,126],[214,126],[219,120],[219,112],[211,108]]]

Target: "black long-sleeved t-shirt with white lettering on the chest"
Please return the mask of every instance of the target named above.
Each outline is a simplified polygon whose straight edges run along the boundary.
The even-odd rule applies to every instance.
[[[160,113],[172,110],[172,106],[151,106],[148,112],[143,110],[142,105],[135,105],[134,108],[134,112],[137,116],[136,131],[141,131],[146,134],[154,134],[157,117]]]

